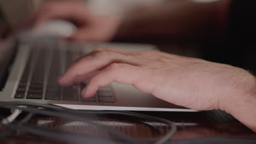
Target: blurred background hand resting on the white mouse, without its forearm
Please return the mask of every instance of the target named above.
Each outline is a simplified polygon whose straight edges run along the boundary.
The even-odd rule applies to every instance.
[[[37,28],[52,19],[74,23],[78,29],[68,39],[78,41],[110,40],[120,23],[119,17],[91,13],[83,1],[48,1],[32,12],[22,23],[22,27]]]

